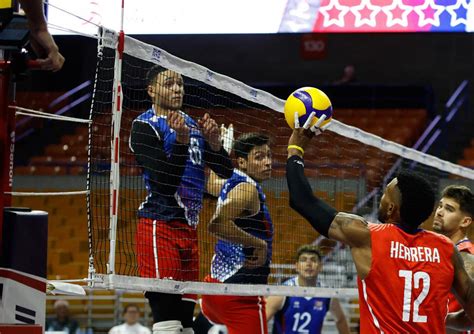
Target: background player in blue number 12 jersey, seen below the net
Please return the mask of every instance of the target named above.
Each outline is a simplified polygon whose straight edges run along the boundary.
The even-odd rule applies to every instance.
[[[291,286],[317,286],[321,271],[321,253],[318,248],[303,245],[297,251],[297,276],[284,284]],[[272,296],[267,299],[267,318],[274,318],[274,334],[319,334],[326,313],[331,311],[339,333],[350,333],[339,301],[335,298]]]

